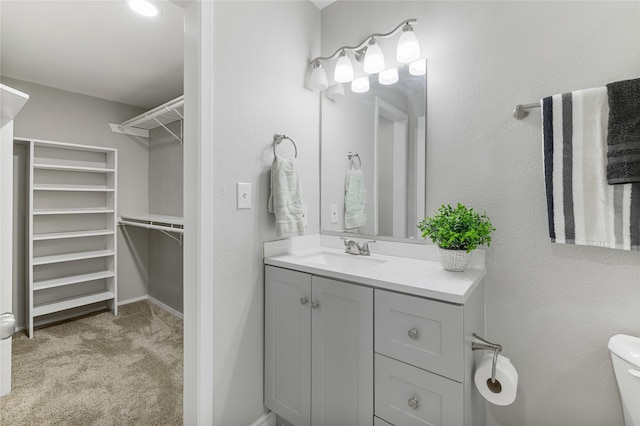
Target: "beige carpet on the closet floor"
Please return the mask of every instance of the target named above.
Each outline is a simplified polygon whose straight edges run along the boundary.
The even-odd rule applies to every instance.
[[[181,425],[182,336],[149,302],[21,333],[0,425]]]

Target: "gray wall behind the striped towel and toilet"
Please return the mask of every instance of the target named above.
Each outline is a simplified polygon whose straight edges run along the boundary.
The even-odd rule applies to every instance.
[[[637,78],[638,2],[347,2],[322,11],[323,51],[408,17],[428,58],[428,214],[486,210],[487,338],[519,371],[492,425],[622,425],[607,341],[640,330],[640,253],[549,242],[540,115],[519,103]]]

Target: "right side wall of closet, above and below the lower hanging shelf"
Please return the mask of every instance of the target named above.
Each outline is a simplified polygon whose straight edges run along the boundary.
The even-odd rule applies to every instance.
[[[180,135],[179,121],[167,127]],[[182,152],[182,144],[165,129],[151,130],[149,213],[182,216]],[[178,312],[183,312],[182,260],[182,246],[177,241],[149,231],[149,296]]]

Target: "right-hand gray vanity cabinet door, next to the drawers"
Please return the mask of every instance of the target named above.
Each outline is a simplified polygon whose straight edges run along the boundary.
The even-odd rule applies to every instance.
[[[373,290],[313,277],[312,424],[373,423]]]

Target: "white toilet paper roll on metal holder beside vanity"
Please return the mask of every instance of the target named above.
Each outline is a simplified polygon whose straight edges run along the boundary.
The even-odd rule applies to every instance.
[[[491,384],[491,368],[493,366],[493,354],[487,354],[482,357],[480,364],[476,368],[474,381],[476,387],[480,391],[480,395],[487,401],[495,405],[509,405],[516,399],[518,390],[518,372],[511,364],[509,358],[498,355],[496,365],[496,380],[500,386]],[[487,383],[489,381],[489,383]],[[496,387],[501,389],[498,393]],[[493,389],[493,390],[492,390]]]

